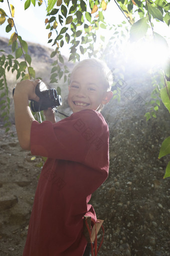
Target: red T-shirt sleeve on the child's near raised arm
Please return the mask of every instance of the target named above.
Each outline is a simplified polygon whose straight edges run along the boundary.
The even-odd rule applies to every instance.
[[[108,165],[108,137],[108,126],[102,115],[94,110],[82,110],[55,124],[33,121],[31,153],[88,164],[92,168],[100,165],[105,169]]]

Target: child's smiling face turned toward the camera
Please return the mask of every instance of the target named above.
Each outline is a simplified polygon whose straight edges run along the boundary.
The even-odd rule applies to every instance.
[[[68,104],[73,112],[83,109],[97,110],[103,102],[105,91],[95,69],[78,68],[71,76]]]

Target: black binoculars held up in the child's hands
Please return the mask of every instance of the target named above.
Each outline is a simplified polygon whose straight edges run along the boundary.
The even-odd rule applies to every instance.
[[[12,94],[14,93],[14,88]],[[45,110],[48,107],[57,107],[62,105],[62,99],[60,95],[57,95],[56,90],[47,89],[43,82],[39,82],[35,87],[35,93],[39,97],[39,101],[30,100],[30,108],[32,112],[39,112]]]

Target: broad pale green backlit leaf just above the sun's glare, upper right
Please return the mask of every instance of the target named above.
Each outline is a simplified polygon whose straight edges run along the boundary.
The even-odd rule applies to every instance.
[[[146,17],[133,23],[133,25],[130,28],[130,41],[137,41],[140,38],[142,38],[146,34],[147,29],[148,24]]]

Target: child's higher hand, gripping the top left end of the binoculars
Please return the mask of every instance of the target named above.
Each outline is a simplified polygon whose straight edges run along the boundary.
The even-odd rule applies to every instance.
[[[13,97],[26,96],[28,100],[33,99],[39,101],[39,97],[35,94],[35,87],[40,82],[39,79],[36,80],[22,80],[16,84]]]

